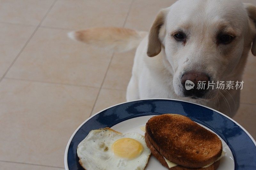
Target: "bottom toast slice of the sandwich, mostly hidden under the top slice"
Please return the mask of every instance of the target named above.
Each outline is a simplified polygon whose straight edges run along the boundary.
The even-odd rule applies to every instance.
[[[156,150],[156,148],[154,148],[153,145],[150,144],[148,137],[145,135],[145,141],[146,144],[148,146],[148,148],[151,151],[151,154],[166,168],[168,168],[169,170],[215,170],[219,167],[220,165],[220,160],[214,162],[212,165],[206,167],[206,168],[187,168],[187,167],[183,167],[183,166],[174,166],[169,168],[169,166],[167,165],[166,161],[164,160],[164,157]]]

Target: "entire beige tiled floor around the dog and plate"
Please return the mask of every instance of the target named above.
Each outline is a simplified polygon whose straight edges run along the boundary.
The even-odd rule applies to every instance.
[[[0,0],[0,169],[63,169],[73,131],[90,115],[125,101],[134,50],[99,51],[69,40],[70,30],[147,31],[157,11],[173,2]],[[234,118],[254,138],[255,66],[250,54]]]

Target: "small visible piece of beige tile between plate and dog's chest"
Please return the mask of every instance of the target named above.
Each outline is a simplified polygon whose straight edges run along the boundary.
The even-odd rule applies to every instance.
[[[126,92],[123,90],[101,89],[99,98],[92,113],[95,114],[107,107],[125,102],[125,96]]]

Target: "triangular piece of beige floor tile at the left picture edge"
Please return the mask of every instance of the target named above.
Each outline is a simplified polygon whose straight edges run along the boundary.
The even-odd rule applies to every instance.
[[[34,26],[0,23],[0,77],[3,76],[35,29]]]

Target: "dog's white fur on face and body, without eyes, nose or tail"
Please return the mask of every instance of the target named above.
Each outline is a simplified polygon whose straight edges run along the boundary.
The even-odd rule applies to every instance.
[[[180,99],[212,107],[229,116],[235,115],[240,90],[212,90],[208,99],[186,98],[182,97],[180,75],[185,70],[196,70],[212,75],[215,82],[242,80],[255,36],[255,27],[249,28],[252,21],[243,4],[234,0],[180,0],[167,9],[168,15],[159,31],[164,47],[158,55],[148,57],[148,37],[141,41],[127,87],[127,100]],[[216,26],[222,23],[234,29],[237,37],[231,45],[216,47],[213,34],[217,31]],[[191,37],[185,46],[171,36],[177,26],[189,27]]]

